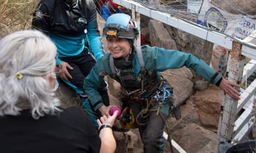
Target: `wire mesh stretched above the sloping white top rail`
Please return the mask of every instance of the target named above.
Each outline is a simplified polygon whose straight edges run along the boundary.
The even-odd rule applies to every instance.
[[[211,28],[211,30],[220,30],[225,22],[229,25],[224,25],[225,30],[231,30],[235,33],[238,29],[237,26],[230,26],[237,21],[241,22],[240,26],[247,26],[251,30],[251,33],[255,30],[255,19],[256,19],[256,1],[236,1],[236,0],[212,0],[212,1],[142,1],[135,0],[142,4],[142,6],[146,6],[148,8],[165,12],[171,14],[176,18],[183,19],[189,22],[198,22],[200,18],[207,19],[207,21],[215,28]],[[207,3],[208,2],[208,3]],[[195,6],[198,4],[198,8],[195,8],[194,11],[191,10],[191,6]],[[219,11],[215,11],[213,13],[207,14],[207,11],[211,7],[216,7]],[[207,16],[207,18],[206,18]],[[248,23],[250,22],[250,23]],[[224,32],[223,32],[224,33]],[[245,34],[248,36],[250,33]]]

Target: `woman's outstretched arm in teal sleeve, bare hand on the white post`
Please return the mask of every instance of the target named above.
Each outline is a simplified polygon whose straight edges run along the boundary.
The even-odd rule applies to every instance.
[[[155,65],[154,69],[163,72],[166,69],[181,68],[183,66],[191,68],[196,74],[208,80],[211,84],[219,86],[221,89],[223,89],[224,93],[227,93],[231,98],[235,100],[240,99],[239,91],[234,88],[239,87],[238,84],[222,78],[218,72],[206,64],[203,60],[196,58],[193,54],[180,52],[178,50],[165,50],[164,48],[157,47],[142,47],[142,49],[144,48],[145,50],[152,50],[151,57],[153,58],[150,60],[152,63],[154,63],[152,65]]]

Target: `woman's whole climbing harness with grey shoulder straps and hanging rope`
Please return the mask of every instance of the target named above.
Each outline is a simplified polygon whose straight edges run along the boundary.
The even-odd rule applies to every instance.
[[[141,48],[136,48],[137,57],[139,59],[140,69],[141,69],[141,86],[140,89],[137,87],[139,85],[135,84],[136,80],[134,77],[134,80],[131,78],[134,76],[132,73],[134,73],[134,70],[132,67],[130,69],[116,69],[114,64],[114,58],[112,55],[110,55],[110,68],[112,72],[112,76],[114,78],[119,79],[120,83],[125,85],[126,91],[127,91],[127,98],[125,100],[122,100],[123,108],[122,113],[120,116],[120,125],[129,128],[129,129],[136,129],[137,127],[146,128],[147,121],[149,120],[150,112],[156,111],[156,115],[160,115],[161,118],[166,124],[165,118],[163,114],[160,113],[160,109],[170,103],[170,110],[175,116],[176,120],[179,120],[181,118],[181,112],[178,106],[174,104],[173,99],[173,93],[170,93],[169,90],[166,90],[166,88],[163,88],[163,84],[166,83],[166,80],[161,76],[160,82],[156,79],[156,72],[153,74],[149,74],[150,72],[147,72],[145,68],[145,63],[142,57]],[[123,70],[123,71],[121,71]],[[127,73],[129,72],[130,73]],[[122,79],[122,77],[127,77],[131,79],[132,81],[125,81]],[[144,78],[146,79],[146,82],[144,82]],[[130,83],[130,84],[129,84]],[[127,85],[128,84],[128,85]],[[130,88],[129,88],[130,86]],[[134,87],[135,88],[132,88]],[[162,88],[161,88],[162,87]],[[134,90],[132,90],[134,89]],[[141,98],[142,94],[151,94],[147,96],[148,98]],[[152,95],[154,93],[155,95]],[[156,108],[155,108],[156,107]],[[170,142],[171,150],[173,150],[173,146],[171,145],[171,135],[168,132],[168,141]]]

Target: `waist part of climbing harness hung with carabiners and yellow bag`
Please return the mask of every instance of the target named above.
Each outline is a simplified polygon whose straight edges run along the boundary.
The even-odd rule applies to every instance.
[[[156,111],[156,115],[159,115],[160,109],[168,103],[171,103],[171,111],[174,113],[176,120],[181,118],[179,107],[173,103],[173,94],[165,88],[158,89],[156,94],[152,96],[151,99],[133,98],[129,100],[133,101],[134,103],[130,104],[130,106],[126,106],[123,109],[120,120],[120,124],[126,128],[135,129],[136,127],[146,125],[147,121],[149,120],[149,113]],[[155,108],[156,103],[157,108]],[[141,108],[141,110],[136,108]]]

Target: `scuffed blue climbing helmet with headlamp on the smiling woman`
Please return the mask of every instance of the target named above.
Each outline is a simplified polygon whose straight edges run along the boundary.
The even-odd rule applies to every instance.
[[[107,18],[102,36],[134,39],[138,34],[139,30],[129,15],[116,13]]]

